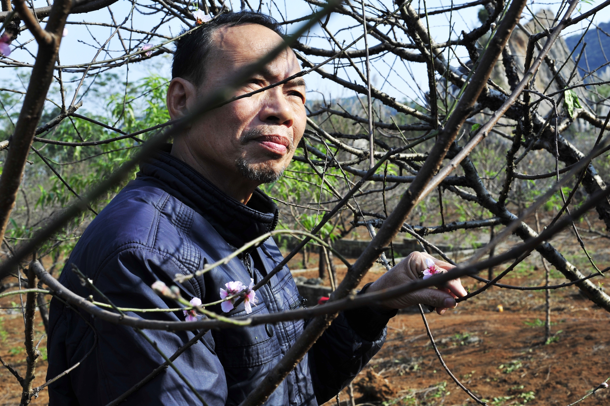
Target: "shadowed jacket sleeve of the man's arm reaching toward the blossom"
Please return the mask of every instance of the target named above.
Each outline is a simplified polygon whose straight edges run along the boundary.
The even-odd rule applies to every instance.
[[[380,312],[370,307],[339,313],[307,353],[318,404],[336,396],[367,365],[386,340],[387,322],[397,313],[398,310]]]

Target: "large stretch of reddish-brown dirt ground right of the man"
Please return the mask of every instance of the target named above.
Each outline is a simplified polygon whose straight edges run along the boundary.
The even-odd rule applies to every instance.
[[[483,295],[478,303],[461,304],[443,316],[426,315],[448,368],[479,398],[494,406],[568,405],[610,376],[605,310],[580,297],[554,297],[551,332],[556,340],[544,345],[544,326],[537,322],[544,320],[537,310],[542,295],[500,294],[497,288]],[[498,304],[508,310],[493,311]],[[369,371],[376,374],[374,382],[367,378]],[[354,383],[356,404],[475,404],[443,370],[419,314],[390,321],[386,344]],[[392,392],[386,388],[379,396],[384,383]],[[608,405],[607,396],[600,390],[581,405]],[[348,399],[346,391],[340,399]]]

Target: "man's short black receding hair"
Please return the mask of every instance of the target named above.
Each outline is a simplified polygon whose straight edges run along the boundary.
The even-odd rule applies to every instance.
[[[171,77],[182,77],[195,85],[201,85],[205,76],[207,55],[212,49],[212,34],[222,26],[235,27],[242,24],[259,24],[284,36],[282,26],[273,17],[259,12],[243,10],[216,16],[190,34],[174,41],[176,51],[171,64]],[[184,34],[187,29],[182,30]]]

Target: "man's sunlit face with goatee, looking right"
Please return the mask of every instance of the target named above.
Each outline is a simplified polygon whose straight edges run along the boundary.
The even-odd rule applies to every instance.
[[[212,38],[206,76],[196,87],[199,99],[229,84],[241,69],[282,41],[278,34],[258,24],[221,27]],[[258,90],[299,71],[298,60],[287,49],[234,95]],[[224,171],[229,175],[227,180],[239,174],[260,185],[279,178],[303,137],[305,125],[305,84],[298,78],[206,113],[193,123],[184,142],[195,160]]]

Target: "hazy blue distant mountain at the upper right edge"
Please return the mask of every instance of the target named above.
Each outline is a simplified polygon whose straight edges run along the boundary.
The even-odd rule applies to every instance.
[[[578,48],[576,48],[576,51],[572,54],[572,58],[576,60],[576,58],[578,58],[578,54],[580,54],[581,48],[583,47],[583,43],[587,43],[587,46],[584,49],[583,57],[581,57],[580,62],[578,63],[578,67],[584,69],[585,71],[598,68],[610,60],[610,21],[608,23],[598,24],[598,27],[599,29],[591,24],[589,31],[587,31],[587,34],[583,38],[583,41],[581,41]],[[574,48],[576,43],[578,43],[581,35],[582,34],[577,34],[565,38],[565,43],[569,48],[568,52],[572,51],[572,48]],[[606,59],[606,57],[608,59]],[[588,69],[587,62],[589,63]],[[606,67],[601,68],[598,73],[605,71],[605,69]],[[583,71],[580,69],[578,70],[582,75]]]

